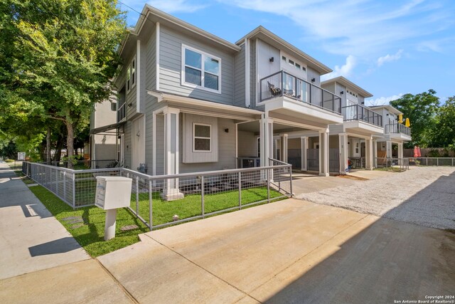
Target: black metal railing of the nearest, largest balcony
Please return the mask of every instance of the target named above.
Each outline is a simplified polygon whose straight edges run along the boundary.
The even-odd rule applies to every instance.
[[[283,70],[260,80],[260,100],[286,96],[324,110],[341,114],[341,98],[328,90]]]

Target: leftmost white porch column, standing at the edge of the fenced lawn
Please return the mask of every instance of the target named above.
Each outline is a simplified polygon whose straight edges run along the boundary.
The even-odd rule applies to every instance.
[[[176,108],[164,109],[164,174],[178,174],[178,113]],[[163,189],[166,201],[182,199],[178,179],[166,179]]]

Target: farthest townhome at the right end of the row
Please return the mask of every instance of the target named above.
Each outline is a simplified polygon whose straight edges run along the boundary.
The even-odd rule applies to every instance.
[[[403,113],[392,105],[376,105],[370,109],[383,117],[384,136],[378,140],[378,157],[403,158],[403,144],[412,140],[411,128],[400,121]]]

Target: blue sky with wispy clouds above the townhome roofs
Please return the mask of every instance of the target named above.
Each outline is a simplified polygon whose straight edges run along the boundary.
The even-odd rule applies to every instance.
[[[262,25],[333,69],[323,79],[372,93],[367,105],[430,88],[455,95],[454,0],[120,1],[129,26],[146,3],[231,42]]]

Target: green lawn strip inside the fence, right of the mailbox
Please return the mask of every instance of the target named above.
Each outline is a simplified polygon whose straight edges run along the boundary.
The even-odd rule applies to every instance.
[[[175,201],[165,201],[161,199],[161,193],[154,192],[152,196],[153,204],[153,224],[160,225],[172,221],[174,214],[178,215],[179,219],[186,219],[191,216],[201,215],[201,199],[200,194],[187,194],[183,199]],[[270,198],[282,196],[277,191],[270,189]],[[250,204],[255,201],[267,199],[267,188],[257,187],[242,190],[242,205]],[[278,200],[278,199],[277,199]],[[214,211],[220,211],[231,207],[238,206],[239,192],[221,192],[217,194],[205,194],[204,209],[205,214]],[[132,194],[131,208],[136,210],[136,194]],[[149,221],[149,193],[139,194],[139,215]]]

